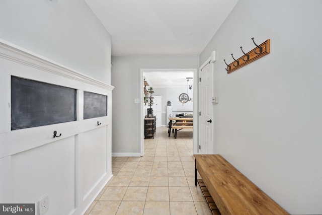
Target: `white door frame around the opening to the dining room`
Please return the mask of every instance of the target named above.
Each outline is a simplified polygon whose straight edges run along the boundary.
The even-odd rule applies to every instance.
[[[144,131],[144,114],[143,114],[143,73],[145,72],[151,72],[151,71],[174,71],[174,72],[179,72],[179,71],[193,71],[193,76],[194,76],[194,79],[199,79],[199,75],[197,73],[197,70],[196,68],[174,68],[174,69],[163,69],[163,68],[156,68],[156,69],[151,69],[151,68],[141,68],[140,69],[140,154],[141,156],[144,156],[144,134],[143,134],[143,131]],[[197,86],[196,86],[196,83]],[[198,116],[198,94],[199,94],[199,82],[194,82],[194,85],[192,86],[193,87],[193,97],[196,98],[194,99],[194,102],[193,102],[193,115],[194,116]],[[199,120],[198,120],[199,117],[195,117],[194,118],[194,124],[196,123],[196,125],[198,125],[197,123],[199,123]],[[197,119],[197,120],[196,120]],[[196,149],[197,149],[197,143],[198,143],[198,126],[193,126],[193,151],[194,151],[194,154],[196,154]]]

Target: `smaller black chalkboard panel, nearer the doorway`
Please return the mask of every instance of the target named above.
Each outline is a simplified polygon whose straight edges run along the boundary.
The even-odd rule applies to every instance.
[[[84,92],[84,119],[107,116],[107,96]]]

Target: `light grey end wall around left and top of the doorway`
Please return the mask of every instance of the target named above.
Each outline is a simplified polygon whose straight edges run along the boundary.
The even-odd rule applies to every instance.
[[[140,153],[140,69],[198,68],[198,56],[112,56],[112,153]],[[126,117],[126,120],[125,118]]]

